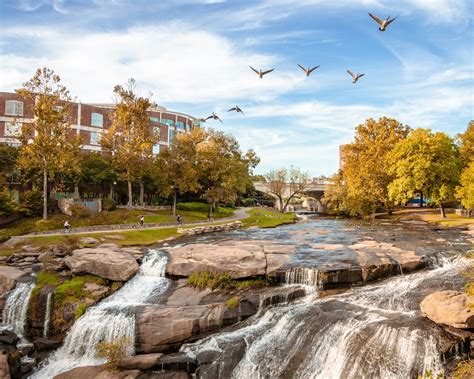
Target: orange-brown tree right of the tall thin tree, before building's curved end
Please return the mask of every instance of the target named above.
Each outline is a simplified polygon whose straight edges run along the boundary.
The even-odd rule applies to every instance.
[[[163,182],[160,193],[173,197],[174,216],[178,195],[196,192],[200,188],[197,145],[205,138],[205,130],[201,128],[194,128],[190,133],[179,133],[173,145],[161,152],[155,161],[155,176]]]

